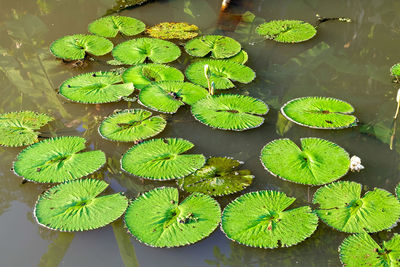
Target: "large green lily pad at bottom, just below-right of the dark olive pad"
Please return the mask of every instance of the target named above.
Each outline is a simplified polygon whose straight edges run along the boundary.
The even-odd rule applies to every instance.
[[[278,191],[257,191],[232,201],[222,213],[222,231],[250,247],[290,247],[311,236],[318,217],[309,206],[286,210],[296,199]]]

